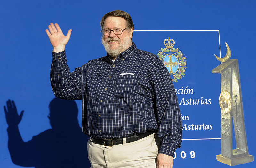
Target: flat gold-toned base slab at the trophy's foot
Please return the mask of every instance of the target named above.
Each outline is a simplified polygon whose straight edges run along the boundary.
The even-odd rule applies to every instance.
[[[228,157],[222,156],[221,154],[216,155],[216,159],[221,163],[228,164],[229,166],[235,166],[238,164],[253,162],[253,160],[254,160],[252,155],[238,157],[235,159],[230,159]]]

